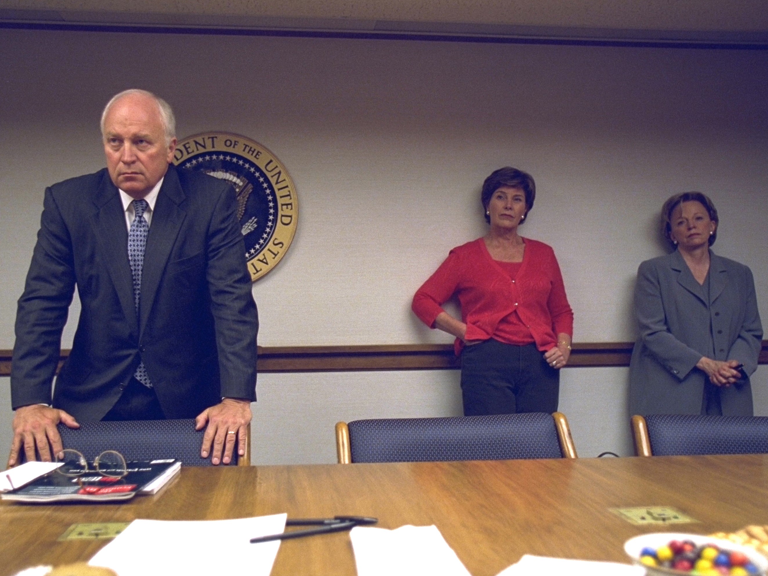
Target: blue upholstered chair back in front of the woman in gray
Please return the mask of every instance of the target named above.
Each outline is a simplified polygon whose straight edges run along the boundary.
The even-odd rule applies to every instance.
[[[654,456],[768,454],[768,418],[649,414]]]

